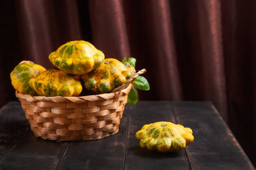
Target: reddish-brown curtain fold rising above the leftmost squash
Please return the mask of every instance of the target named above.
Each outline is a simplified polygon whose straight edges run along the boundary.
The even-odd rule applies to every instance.
[[[42,0],[17,2],[23,57],[25,60],[35,63],[45,63],[45,51],[50,52],[53,46],[53,37],[51,36],[53,29],[50,27],[52,23],[51,13],[49,13],[54,11],[52,4]],[[47,66],[49,65],[47,63]]]

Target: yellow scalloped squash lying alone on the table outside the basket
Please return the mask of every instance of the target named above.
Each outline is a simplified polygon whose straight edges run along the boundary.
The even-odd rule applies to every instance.
[[[179,124],[159,121],[144,125],[135,134],[141,148],[159,152],[183,150],[194,140],[192,130]]]

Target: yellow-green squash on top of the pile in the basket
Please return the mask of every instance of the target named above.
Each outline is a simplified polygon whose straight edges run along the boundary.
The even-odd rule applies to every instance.
[[[105,55],[90,42],[70,41],[49,54],[50,62],[65,73],[82,75],[97,68]]]

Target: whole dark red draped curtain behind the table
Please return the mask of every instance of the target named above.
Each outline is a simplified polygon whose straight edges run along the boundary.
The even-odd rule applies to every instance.
[[[18,62],[53,68],[50,52],[86,40],[107,58],[137,58],[151,86],[140,100],[212,101],[256,164],[256,1],[16,0],[0,8],[1,106],[15,100],[9,73]]]

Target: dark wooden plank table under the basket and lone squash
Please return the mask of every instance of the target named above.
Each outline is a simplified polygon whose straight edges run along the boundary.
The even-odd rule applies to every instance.
[[[184,151],[160,153],[139,147],[144,124],[171,121],[195,137]],[[40,139],[19,102],[0,110],[1,170],[255,170],[211,102],[138,102],[126,105],[119,132],[93,141]]]

